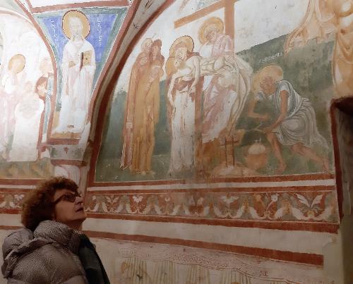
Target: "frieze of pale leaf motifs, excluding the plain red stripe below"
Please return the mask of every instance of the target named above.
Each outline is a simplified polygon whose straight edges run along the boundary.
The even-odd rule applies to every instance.
[[[334,190],[291,192],[88,192],[86,210],[97,214],[167,216],[239,221],[337,223]]]

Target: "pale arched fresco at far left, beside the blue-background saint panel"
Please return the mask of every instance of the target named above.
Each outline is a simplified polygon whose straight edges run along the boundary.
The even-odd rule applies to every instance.
[[[1,8],[0,177],[49,175],[47,123],[53,65],[30,20]]]

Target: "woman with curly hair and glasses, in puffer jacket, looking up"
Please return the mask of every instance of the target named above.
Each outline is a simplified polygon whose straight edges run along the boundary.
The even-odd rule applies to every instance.
[[[25,228],[6,237],[1,267],[8,283],[109,283],[94,245],[79,229],[83,198],[68,178],[45,180],[23,203]]]

